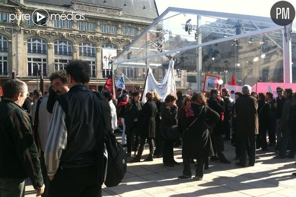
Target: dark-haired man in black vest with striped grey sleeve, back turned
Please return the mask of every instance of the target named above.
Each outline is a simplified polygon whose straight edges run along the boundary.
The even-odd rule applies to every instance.
[[[90,66],[71,61],[66,68],[67,93],[57,97],[45,146],[50,196],[101,196],[105,128],[111,129],[111,112],[87,86]],[[109,117],[109,122],[103,117]]]

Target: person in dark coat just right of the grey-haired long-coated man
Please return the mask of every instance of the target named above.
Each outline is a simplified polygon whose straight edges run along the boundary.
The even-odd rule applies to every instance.
[[[256,136],[256,149],[267,151],[266,132],[269,124],[270,104],[266,102],[264,93],[258,94],[259,134]]]

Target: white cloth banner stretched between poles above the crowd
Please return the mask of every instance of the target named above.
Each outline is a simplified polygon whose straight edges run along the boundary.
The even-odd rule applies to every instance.
[[[146,102],[145,95],[147,92],[157,92],[160,96],[160,99],[163,101],[168,94],[176,95],[176,84],[174,77],[174,61],[170,60],[168,64],[168,69],[165,73],[165,76],[161,83],[158,83],[152,73],[151,69],[148,69],[147,79],[145,82],[145,87],[143,91],[142,102]]]

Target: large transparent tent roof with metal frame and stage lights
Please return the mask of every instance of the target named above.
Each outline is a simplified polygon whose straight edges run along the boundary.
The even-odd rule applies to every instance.
[[[169,7],[117,56],[113,65],[120,72],[125,72],[125,67],[166,69],[169,59],[174,58],[181,76],[192,76],[195,72],[197,85],[201,86],[199,82],[202,83],[205,73],[222,75],[226,82],[234,73],[239,73],[237,79],[241,84],[264,81],[264,67],[258,68],[261,70],[258,76],[253,70],[254,79],[250,82],[244,78],[250,78],[248,70],[251,72],[257,63],[269,63],[267,67],[273,70],[268,75],[272,72],[274,75],[267,81],[281,82],[277,69],[283,68],[283,63],[278,63],[283,62],[282,30],[283,26],[277,26],[268,17]],[[291,46],[296,53],[295,33],[291,34]],[[132,76],[134,80],[143,78],[138,73]],[[156,79],[162,77],[163,73],[159,73]]]

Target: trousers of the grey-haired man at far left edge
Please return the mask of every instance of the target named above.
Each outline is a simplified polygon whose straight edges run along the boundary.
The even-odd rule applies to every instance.
[[[24,179],[0,178],[0,197],[24,197]]]

